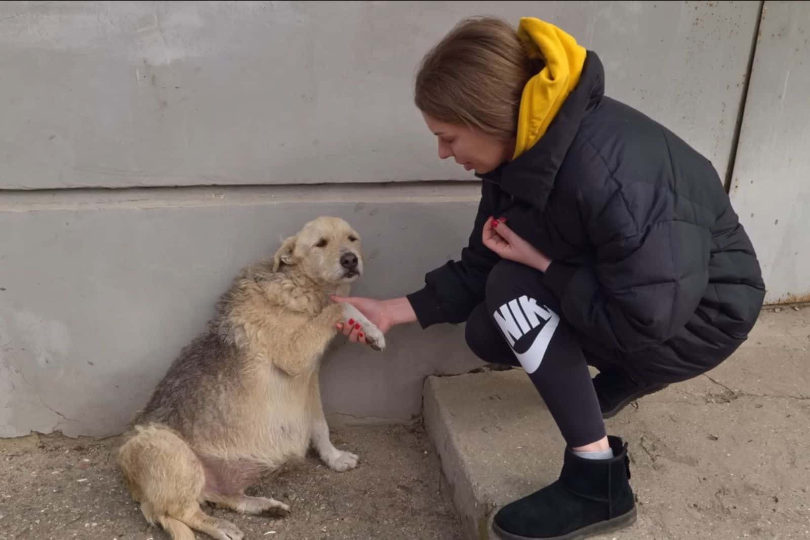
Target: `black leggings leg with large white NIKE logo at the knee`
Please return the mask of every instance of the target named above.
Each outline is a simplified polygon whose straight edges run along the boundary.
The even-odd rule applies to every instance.
[[[543,274],[503,260],[489,275],[486,301],[467,319],[467,344],[481,360],[522,365],[565,442],[584,446],[605,436],[588,362]]]

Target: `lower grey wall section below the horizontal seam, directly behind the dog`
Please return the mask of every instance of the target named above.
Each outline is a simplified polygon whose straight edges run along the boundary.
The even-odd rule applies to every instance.
[[[318,215],[363,236],[353,293],[420,289],[458,258],[479,196],[478,184],[0,196],[0,437],[119,432],[238,269]],[[450,325],[397,328],[382,354],[340,340],[322,370],[335,420],[410,420],[424,377],[479,364]]]

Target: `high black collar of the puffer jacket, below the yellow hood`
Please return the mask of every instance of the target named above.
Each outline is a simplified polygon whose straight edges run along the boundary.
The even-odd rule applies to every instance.
[[[565,154],[582,119],[604,95],[604,68],[596,53],[588,51],[579,84],[565,99],[548,130],[529,150],[479,178],[499,184],[515,198],[543,210],[554,187]]]

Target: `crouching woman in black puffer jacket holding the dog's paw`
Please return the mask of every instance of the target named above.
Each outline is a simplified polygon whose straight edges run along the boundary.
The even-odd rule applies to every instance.
[[[565,464],[497,513],[501,538],[632,523],[627,446],[603,418],[714,368],[763,302],[711,163],[603,95],[603,75],[595,53],[538,19],[517,32],[471,19],[445,36],[420,67],[416,106],[439,158],[483,179],[469,245],[407,297],[335,298],[384,332],[466,321],[476,355],[526,370],[565,437]]]

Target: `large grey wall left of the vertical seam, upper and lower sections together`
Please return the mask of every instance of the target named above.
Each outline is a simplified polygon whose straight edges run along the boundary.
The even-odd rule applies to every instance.
[[[476,14],[565,27],[608,94],[725,174],[757,2],[0,3],[0,436],[120,430],[237,268],[309,217],[364,234],[361,294],[457,257],[478,186],[383,183],[470,179],[411,83]],[[426,374],[475,364],[461,328],[398,329],[330,357],[326,407],[407,419]]]

